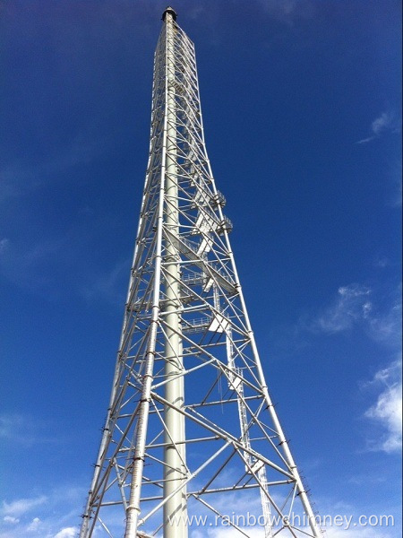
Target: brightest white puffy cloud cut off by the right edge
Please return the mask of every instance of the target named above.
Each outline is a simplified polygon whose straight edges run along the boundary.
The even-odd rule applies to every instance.
[[[370,443],[372,450],[387,453],[399,452],[402,447],[402,381],[401,360],[379,370],[371,385],[382,386],[377,401],[366,412],[365,417],[381,425],[381,438]]]

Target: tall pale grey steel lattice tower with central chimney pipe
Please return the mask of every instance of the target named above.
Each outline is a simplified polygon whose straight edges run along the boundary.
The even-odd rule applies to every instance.
[[[187,538],[186,517],[207,513],[249,536],[235,504],[262,516],[265,538],[318,538],[236,273],[194,46],[172,8],[163,21],[133,268],[81,538]]]

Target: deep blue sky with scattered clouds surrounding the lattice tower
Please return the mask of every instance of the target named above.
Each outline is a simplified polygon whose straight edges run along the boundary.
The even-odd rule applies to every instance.
[[[2,538],[68,538],[80,524],[166,4],[1,5]],[[174,7],[196,45],[210,161],[296,460],[322,514],[396,518],[327,535],[397,538],[400,3]]]

